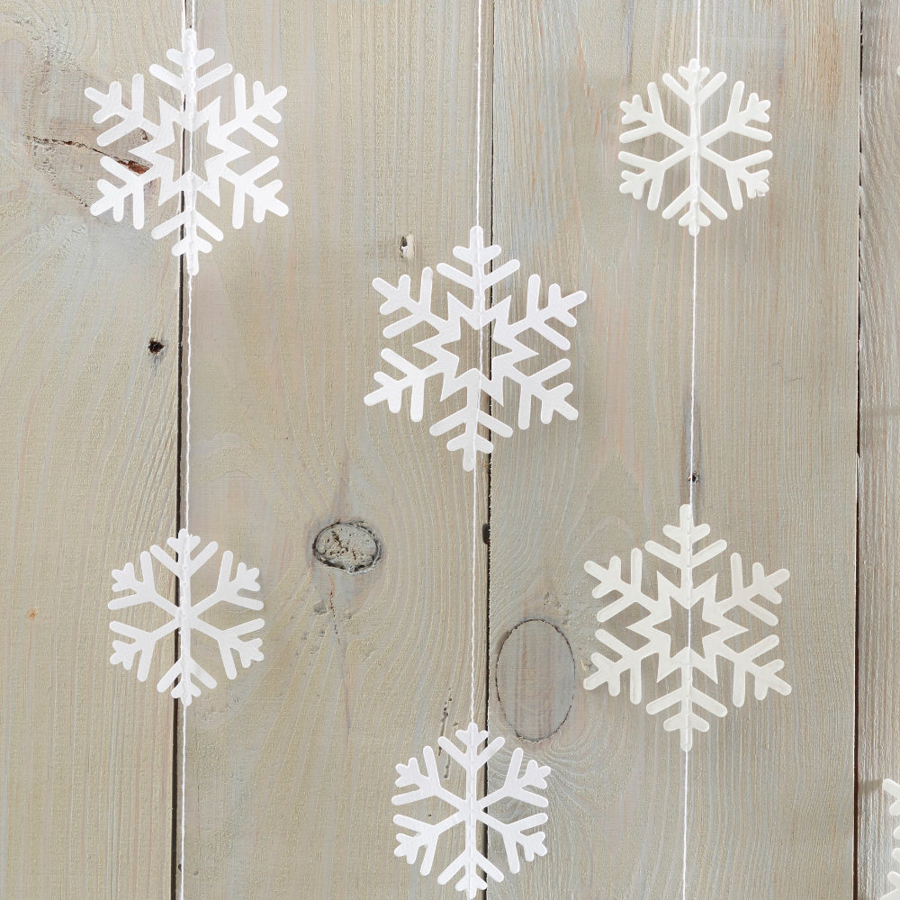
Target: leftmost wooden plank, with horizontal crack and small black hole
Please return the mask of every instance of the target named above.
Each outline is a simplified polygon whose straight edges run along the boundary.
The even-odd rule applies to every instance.
[[[175,526],[178,265],[89,213],[84,92],[130,84],[178,28],[176,8],[137,31],[127,4],[0,13],[4,897],[170,890],[172,704],[109,664],[106,604],[112,569]]]

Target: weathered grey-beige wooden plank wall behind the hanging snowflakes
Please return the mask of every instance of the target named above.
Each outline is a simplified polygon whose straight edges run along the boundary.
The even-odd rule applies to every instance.
[[[482,225],[518,284],[589,293],[580,418],[500,438],[479,470],[476,715],[507,739],[489,781],[519,746],[554,770],[549,854],[498,900],[887,893],[894,0],[702,5],[703,61],[771,100],[775,158],[770,194],[699,241],[698,518],[791,572],[793,693],[714,721],[686,791],[660,717],[581,688],[584,561],[659,539],[688,497],[692,241],[618,192],[617,152],[618,103],[694,55],[695,11],[484,0]],[[0,900],[167,900],[182,816],[188,900],[456,896],[394,858],[390,801],[393,766],[468,722],[473,482],[426,423],[362,398],[372,278],[417,277],[474,222],[476,0],[197,0],[202,46],[287,86],[291,215],[226,231],[193,282],[190,526],[260,568],[266,662],[190,708],[184,781],[168,662],[143,685],[113,669],[106,608],[112,569],[184,521],[184,273],[152,206],[140,232],[90,215],[84,96],[164,62],[181,17],[0,3]]]

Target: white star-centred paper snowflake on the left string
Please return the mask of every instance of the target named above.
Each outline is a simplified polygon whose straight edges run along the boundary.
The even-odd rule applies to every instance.
[[[231,67],[226,64],[216,67],[205,75],[200,69],[214,56],[211,49],[197,49],[197,35],[193,29],[185,29],[182,35],[182,49],[170,49],[166,56],[180,67],[175,74],[162,66],[151,66],[150,75],[164,85],[174,87],[178,92],[179,107],[167,103],[159,97],[159,123],[150,121],[144,115],[144,76],[135,75],[131,79],[130,106],[122,101],[121,84],[112,82],[106,94],[89,87],[85,95],[96,103],[100,109],[94,112],[94,121],[103,122],[108,119],[120,120],[112,128],[103,131],[97,143],[106,147],[114,141],[124,138],[132,132],[141,137],[149,136],[145,143],[139,141],[130,152],[147,162],[147,166],[125,166],[111,157],[102,157],[100,165],[111,175],[118,178],[120,184],[112,184],[105,179],[97,182],[102,196],[91,206],[95,216],[112,210],[112,218],[121,221],[124,215],[125,202],[131,201],[131,220],[136,229],[144,227],[144,189],[151,182],[159,183],[159,205],[175,199],[179,209],[162,224],[157,225],[151,234],[154,238],[162,238],[173,231],[178,238],[172,247],[174,256],[187,257],[187,267],[191,275],[196,275],[199,268],[200,253],[209,253],[212,245],[207,238],[221,240],[221,230],[198,209],[201,197],[220,205],[221,183],[231,184],[234,200],[231,211],[231,224],[239,229],[244,224],[244,211],[247,200],[253,203],[253,219],[261,222],[266,212],[284,216],[287,205],[276,196],[282,183],[274,180],[266,184],[258,184],[264,175],[278,165],[278,157],[268,157],[257,166],[238,172],[233,163],[250,152],[247,148],[235,143],[238,132],[255,138],[266,147],[275,147],[278,139],[260,120],[272,123],[281,121],[281,113],[275,106],[284,99],[287,91],[284,87],[276,87],[266,94],[263,85],[258,81],[253,84],[253,98],[247,105],[247,93],[244,76],[234,76],[234,118],[220,121],[221,97],[217,96],[205,106],[199,105],[199,94],[206,88],[218,84],[231,74]],[[178,126],[178,128],[175,128]],[[205,161],[206,175],[190,168],[175,177],[175,166],[180,166],[182,156],[182,132],[190,136],[199,134],[205,127],[206,146],[213,153]],[[185,165],[189,165],[188,156]],[[199,166],[198,166],[199,167]]]

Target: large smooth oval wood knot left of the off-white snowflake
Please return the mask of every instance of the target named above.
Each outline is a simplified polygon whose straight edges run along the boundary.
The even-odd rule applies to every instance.
[[[559,628],[544,619],[513,628],[500,647],[497,694],[519,737],[543,741],[559,730],[575,698],[575,659]]]

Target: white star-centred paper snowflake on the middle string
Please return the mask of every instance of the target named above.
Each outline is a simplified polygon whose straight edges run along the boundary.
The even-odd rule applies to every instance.
[[[430,428],[432,435],[443,435],[461,428],[462,430],[447,442],[447,449],[463,451],[463,467],[471,472],[475,466],[477,453],[489,454],[493,444],[488,437],[479,434],[479,427],[496,432],[502,437],[512,435],[513,429],[505,422],[482,410],[482,394],[487,394],[500,405],[504,403],[504,383],[509,380],[518,384],[518,427],[528,428],[531,422],[533,401],[540,403],[541,421],[546,425],[559,413],[565,419],[577,419],[578,410],[566,400],[572,392],[572,384],[550,383],[571,365],[568,359],[561,359],[532,374],[523,372],[518,366],[525,360],[538,356],[536,350],[527,347],[519,339],[528,331],[548,340],[554,347],[568,350],[569,340],[556,330],[554,320],[561,325],[572,327],[576,324],[572,309],[587,299],[583,291],[563,297],[558,284],[551,284],[547,304],[540,307],[541,278],[531,275],[528,279],[527,308],[525,317],[510,321],[511,295],[498,303],[488,306],[488,292],[505,278],[518,271],[518,259],[510,259],[501,266],[488,270],[491,262],[500,256],[500,247],[484,246],[482,229],[477,225],[469,232],[468,247],[454,247],[454,256],[463,262],[467,271],[461,272],[455,266],[439,263],[437,272],[449,282],[458,284],[471,293],[471,305],[460,302],[453,293],[447,291],[447,317],[441,318],[431,308],[434,273],[428,267],[422,270],[419,282],[419,299],[410,293],[410,276],[401,275],[396,287],[376,278],[372,283],[384,302],[382,315],[403,311],[406,315],[392,322],[384,329],[385,338],[395,338],[418,325],[427,325],[433,332],[430,337],[420,340],[415,346],[431,357],[428,365],[419,367],[390,348],[382,350],[382,358],[401,373],[395,378],[384,372],[375,373],[375,381],[381,385],[365,397],[367,406],[387,402],[388,409],[396,413],[401,410],[403,394],[410,392],[410,419],[419,422],[425,407],[425,386],[428,379],[440,377],[440,401],[446,401],[457,392],[465,392],[464,406],[441,419]],[[449,347],[463,338],[463,324],[475,332],[489,336],[489,342],[502,347],[506,352],[490,359],[490,376],[480,368],[459,372],[460,359]],[[491,331],[492,329],[492,331]]]

